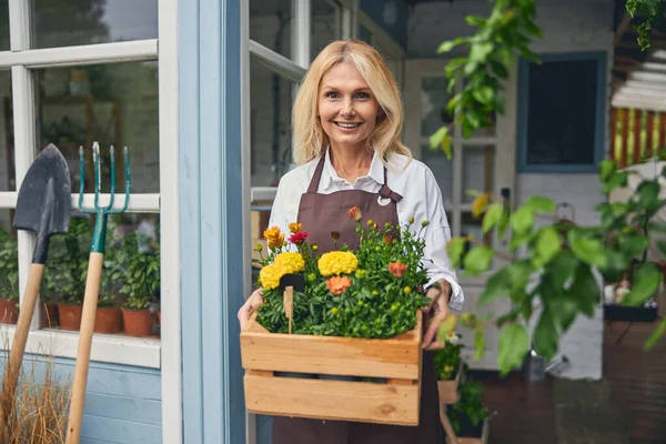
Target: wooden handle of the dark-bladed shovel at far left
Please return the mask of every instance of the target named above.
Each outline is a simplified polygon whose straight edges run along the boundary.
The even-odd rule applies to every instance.
[[[17,382],[19,381],[21,364],[23,363],[23,352],[26,351],[28,333],[30,333],[30,323],[32,323],[32,313],[34,313],[34,306],[37,305],[43,273],[44,264],[33,263],[30,265],[28,286],[26,287],[26,293],[23,293],[23,302],[21,303],[21,311],[19,312],[14,337],[11,343],[11,352],[9,353],[9,361],[7,362],[4,380],[2,381],[2,396],[0,397],[0,400],[2,400],[2,415],[0,417],[0,428],[2,428],[3,424],[7,422],[14,403]]]

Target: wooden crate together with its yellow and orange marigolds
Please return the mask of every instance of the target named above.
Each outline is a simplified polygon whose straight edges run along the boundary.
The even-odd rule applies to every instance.
[[[270,415],[416,425],[427,221],[377,226],[357,208],[349,214],[353,252],[332,232],[334,251],[320,254],[300,223],[264,232],[263,304],[241,333],[245,404]]]

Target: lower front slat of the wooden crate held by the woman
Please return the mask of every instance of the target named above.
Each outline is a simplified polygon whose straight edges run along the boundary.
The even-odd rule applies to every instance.
[[[304,380],[245,374],[249,412],[418,425],[420,384]]]

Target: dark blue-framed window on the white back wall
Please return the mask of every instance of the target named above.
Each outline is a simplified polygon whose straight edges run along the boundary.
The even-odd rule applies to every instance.
[[[593,172],[603,158],[606,54],[521,61],[518,171]]]

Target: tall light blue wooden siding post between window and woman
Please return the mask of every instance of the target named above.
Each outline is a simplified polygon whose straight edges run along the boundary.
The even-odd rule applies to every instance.
[[[241,0],[179,2],[183,435],[244,443]]]

